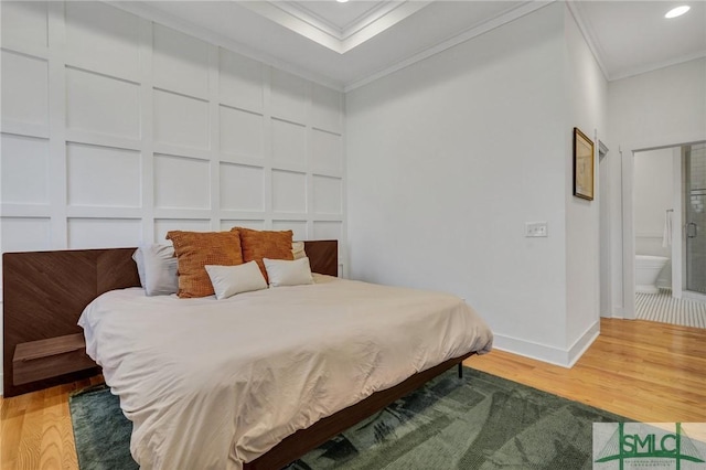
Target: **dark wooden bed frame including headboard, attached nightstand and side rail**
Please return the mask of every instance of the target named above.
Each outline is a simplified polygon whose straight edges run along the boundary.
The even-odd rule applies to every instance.
[[[336,241],[304,242],[304,250],[312,271],[338,276]],[[78,317],[99,295],[140,286],[132,260],[133,252],[135,248],[106,248],[2,255],[6,397],[74,382],[100,372],[85,354],[83,330],[77,325]],[[415,374],[392,388],[377,392],[356,405],[321,419],[289,436],[264,456],[245,463],[244,468],[280,469],[453,365],[459,365],[460,374],[461,362],[471,354]],[[62,367],[67,365],[66,370],[73,372],[33,380],[31,373],[20,371],[33,361],[45,363],[41,367],[33,367],[33,371],[40,370],[40,375],[46,371],[63,371]]]

